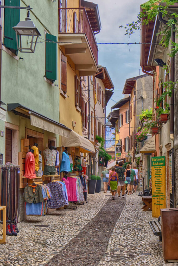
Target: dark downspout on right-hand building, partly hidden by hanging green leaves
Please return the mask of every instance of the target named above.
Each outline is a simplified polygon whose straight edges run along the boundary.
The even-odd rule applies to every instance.
[[[158,14],[158,19],[161,23],[167,25],[167,20],[163,19],[162,13]],[[175,25],[173,24],[171,27],[171,41],[175,43]],[[171,45],[171,49],[174,49],[175,46]],[[171,81],[175,82],[175,56],[171,57]],[[170,139],[174,140],[174,89],[170,99]]]

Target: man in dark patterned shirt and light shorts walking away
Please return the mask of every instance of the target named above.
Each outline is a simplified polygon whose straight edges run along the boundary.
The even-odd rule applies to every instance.
[[[125,194],[125,181],[126,181],[126,169],[123,167],[123,162],[119,162],[116,168],[116,173],[118,174],[118,198],[120,198],[120,189],[122,188],[122,198]]]

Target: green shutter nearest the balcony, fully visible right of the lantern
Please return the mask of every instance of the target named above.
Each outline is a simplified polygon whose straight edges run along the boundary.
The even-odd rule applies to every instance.
[[[54,41],[52,42],[46,42],[46,78],[49,80],[56,80],[57,78],[57,37],[51,34],[46,34],[46,41]]]

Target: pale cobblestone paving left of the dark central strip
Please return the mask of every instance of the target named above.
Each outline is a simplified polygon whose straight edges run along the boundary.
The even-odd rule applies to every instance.
[[[18,236],[7,236],[0,245],[0,266],[42,266],[86,227],[107,202],[106,194],[88,195],[88,203],[76,210],[59,210],[50,215],[28,217],[18,224]],[[35,225],[48,225],[47,228]],[[1,236],[0,236],[1,237]]]

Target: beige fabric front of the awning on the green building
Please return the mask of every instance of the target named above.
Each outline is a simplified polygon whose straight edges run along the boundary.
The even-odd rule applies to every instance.
[[[30,121],[31,121],[32,126],[42,128],[46,131],[52,132],[54,134],[58,134],[66,138],[70,137],[71,131],[69,129],[67,130],[67,128],[60,123],[57,123],[57,122],[54,123],[52,122],[52,120],[51,121],[45,120],[34,114],[30,114]]]

